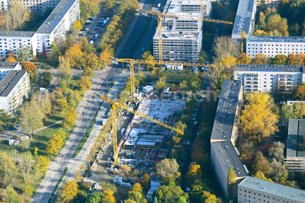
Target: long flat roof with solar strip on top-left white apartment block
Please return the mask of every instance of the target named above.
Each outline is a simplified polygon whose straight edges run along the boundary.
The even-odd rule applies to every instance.
[[[61,0],[36,33],[50,34],[76,0]]]

